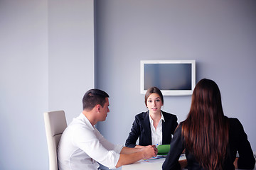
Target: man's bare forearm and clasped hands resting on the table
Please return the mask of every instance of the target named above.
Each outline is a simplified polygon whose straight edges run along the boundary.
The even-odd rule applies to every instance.
[[[120,152],[120,157],[117,162],[116,168],[125,164],[132,164],[140,159],[156,157],[158,150],[151,145],[144,148],[129,148],[124,147]]]

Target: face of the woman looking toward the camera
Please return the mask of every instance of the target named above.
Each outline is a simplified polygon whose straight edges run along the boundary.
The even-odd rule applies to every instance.
[[[146,101],[146,107],[149,108],[150,113],[160,113],[163,102],[159,94],[150,94]]]

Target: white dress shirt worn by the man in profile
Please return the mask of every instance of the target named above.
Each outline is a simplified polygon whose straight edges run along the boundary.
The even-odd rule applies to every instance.
[[[60,170],[95,170],[100,164],[115,169],[122,145],[113,145],[82,113],[65,129],[58,145]]]

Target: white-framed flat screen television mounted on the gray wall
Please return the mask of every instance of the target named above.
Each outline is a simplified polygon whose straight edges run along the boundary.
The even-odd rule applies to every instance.
[[[141,94],[152,86],[164,96],[186,96],[196,86],[195,60],[141,60]]]

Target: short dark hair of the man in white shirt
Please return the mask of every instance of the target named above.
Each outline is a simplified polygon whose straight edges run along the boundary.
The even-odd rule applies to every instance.
[[[97,104],[104,106],[106,98],[110,97],[105,91],[99,89],[90,89],[82,98],[82,108],[91,111]]]

